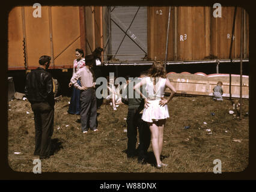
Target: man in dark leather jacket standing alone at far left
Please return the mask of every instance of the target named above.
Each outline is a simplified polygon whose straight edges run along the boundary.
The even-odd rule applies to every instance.
[[[35,121],[35,151],[40,159],[52,153],[50,137],[53,134],[54,94],[52,76],[47,72],[50,56],[39,59],[39,67],[26,76],[25,94],[31,103]]]

